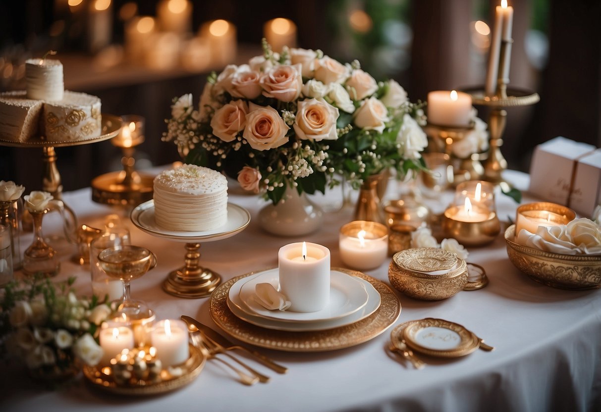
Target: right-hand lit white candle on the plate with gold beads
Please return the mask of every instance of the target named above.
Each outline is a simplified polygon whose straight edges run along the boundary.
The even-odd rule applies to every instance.
[[[152,345],[156,348],[157,359],[163,367],[179,365],[190,357],[188,348],[188,328],[183,321],[167,319],[154,326]]]

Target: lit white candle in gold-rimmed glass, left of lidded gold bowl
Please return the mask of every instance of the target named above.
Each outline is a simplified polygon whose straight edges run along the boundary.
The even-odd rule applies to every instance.
[[[355,235],[340,233],[338,243],[340,259],[353,269],[365,270],[379,267],[388,254],[388,235],[378,236],[361,230]]]

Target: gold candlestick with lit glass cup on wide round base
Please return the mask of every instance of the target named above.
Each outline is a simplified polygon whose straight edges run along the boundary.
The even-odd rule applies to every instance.
[[[134,206],[152,199],[154,177],[139,174],[134,168],[135,147],[144,142],[144,118],[136,115],[121,118],[123,126],[111,143],[123,150],[123,170],[94,178],[92,200],[108,205]]]

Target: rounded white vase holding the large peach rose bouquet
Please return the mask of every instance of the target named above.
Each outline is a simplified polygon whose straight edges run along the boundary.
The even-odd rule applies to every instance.
[[[310,234],[320,228],[323,222],[322,209],[313,204],[305,193],[288,187],[282,201],[269,204],[259,212],[261,228],[273,235],[299,236]]]

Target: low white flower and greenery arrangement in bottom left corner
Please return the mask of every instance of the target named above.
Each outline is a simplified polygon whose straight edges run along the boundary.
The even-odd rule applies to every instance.
[[[111,314],[96,296],[78,298],[66,282],[34,277],[8,283],[0,298],[0,347],[23,360],[34,375],[69,374],[102,358],[96,338]]]

